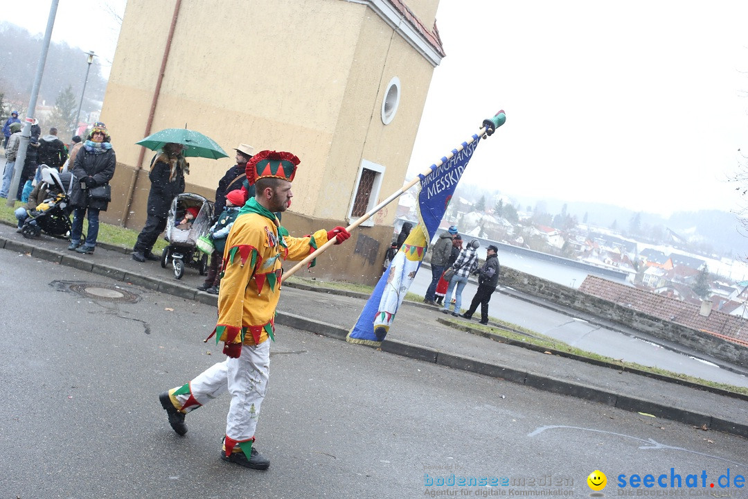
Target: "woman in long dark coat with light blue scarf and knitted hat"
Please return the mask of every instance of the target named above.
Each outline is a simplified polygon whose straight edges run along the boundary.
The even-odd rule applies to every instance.
[[[70,251],[93,253],[96,238],[99,236],[99,211],[106,211],[108,200],[93,198],[90,195],[94,187],[104,186],[114,177],[117,156],[111,148],[111,137],[104,123],[93,123],[91,133],[76,156],[73,164],[73,192],[70,204],[73,206],[73,228],[70,231]],[[88,235],[85,244],[81,244],[83,218],[88,212]]]

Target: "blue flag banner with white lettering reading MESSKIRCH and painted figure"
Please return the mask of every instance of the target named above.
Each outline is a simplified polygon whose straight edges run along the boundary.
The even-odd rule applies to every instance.
[[[473,135],[470,143],[462,143],[461,150],[452,151],[453,156],[450,159],[445,156],[441,159],[441,165],[431,165],[429,173],[419,175],[419,222],[397,251],[387,272],[379,278],[372,296],[346,337],[349,343],[380,346],[387,337],[395,314],[413,283],[426,255],[428,244],[436,235],[457,183],[465,172],[470,158],[473,157],[479,141],[480,136]]]

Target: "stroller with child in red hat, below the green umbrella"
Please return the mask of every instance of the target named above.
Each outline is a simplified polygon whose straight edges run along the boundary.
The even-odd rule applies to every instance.
[[[185,221],[188,213],[197,213]],[[197,238],[205,236],[213,219],[213,205],[203,196],[185,192],[171,201],[166,221],[166,240],[169,245],[161,254],[161,266],[165,269],[171,261],[174,277],[181,279],[185,266],[196,267],[200,275],[208,273],[208,255],[197,250]]]

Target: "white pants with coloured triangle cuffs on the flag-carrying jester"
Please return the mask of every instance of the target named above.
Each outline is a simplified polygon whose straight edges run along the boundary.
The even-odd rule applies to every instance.
[[[270,340],[266,340],[260,345],[243,345],[239,358],[213,364],[189,382],[189,394],[174,397],[188,412],[228,391],[231,405],[226,417],[226,435],[246,441],[254,437],[269,376]],[[185,407],[186,403],[190,405]]]

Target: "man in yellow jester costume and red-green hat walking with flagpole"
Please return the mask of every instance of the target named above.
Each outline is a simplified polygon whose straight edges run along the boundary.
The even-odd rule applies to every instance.
[[[247,163],[247,179],[255,195],[239,211],[226,240],[218,323],[213,331],[216,342],[224,342],[228,358],[191,382],[159,395],[171,428],[185,435],[185,415],[228,391],[231,405],[221,459],[259,470],[270,465],[252,444],[269,377],[268,340],[275,340],[283,260],[303,260],[329,239],[340,244],[350,237],[344,227],[304,237],[291,237],[281,227],[273,212],[283,212],[291,203],[298,163],[292,153],[267,150]]]

